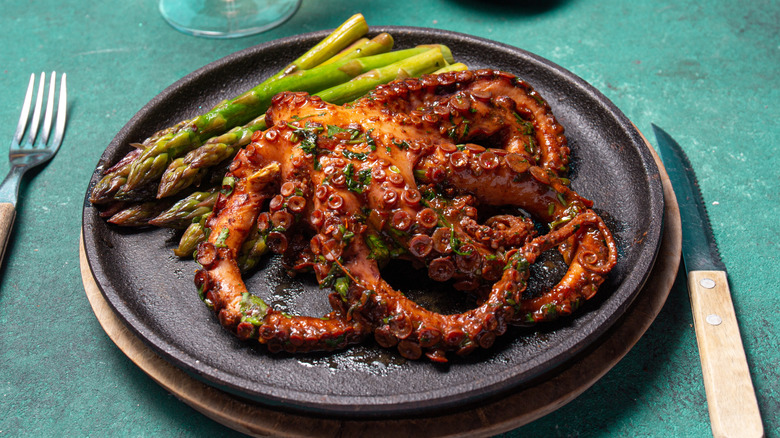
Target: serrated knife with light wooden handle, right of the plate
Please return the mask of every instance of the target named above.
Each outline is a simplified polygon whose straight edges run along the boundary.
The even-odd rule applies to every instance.
[[[653,125],[682,221],[682,253],[715,437],[761,437],[764,428],[750,380],[726,267],[720,259],[696,175],[679,144]]]

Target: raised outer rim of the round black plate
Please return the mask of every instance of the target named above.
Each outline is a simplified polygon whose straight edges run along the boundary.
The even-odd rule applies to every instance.
[[[454,31],[439,30],[439,29],[432,29],[432,28],[425,28],[425,27],[411,27],[411,26],[372,26],[369,35],[375,35],[379,32],[389,32],[394,36],[405,34],[406,36],[410,36],[412,38],[417,38],[422,36],[436,37],[436,36],[443,35],[449,38],[455,38],[458,40],[465,41],[469,44],[487,45],[502,51],[512,52],[513,54],[519,53],[524,57],[534,60],[538,64],[542,64],[545,67],[554,70],[556,74],[563,76],[570,84],[575,84],[578,89],[587,92],[587,94],[590,95],[591,98],[605,105],[609,109],[610,116],[615,117],[620,122],[619,125],[621,126],[621,128],[624,129],[625,133],[628,134],[628,136],[632,139],[632,143],[637,145],[642,145],[642,147],[638,148],[637,151],[642,156],[643,167],[646,169],[646,171],[648,171],[647,175],[653,174],[652,170],[655,171],[655,174],[658,174],[659,172],[658,168],[655,164],[655,161],[652,158],[651,152],[647,149],[646,143],[644,142],[641,133],[639,133],[638,129],[633,125],[633,123],[630,122],[630,120],[625,116],[625,114],[623,114],[623,112],[620,111],[620,109],[617,108],[617,106],[605,95],[603,95],[598,89],[596,89],[595,87],[587,83],[579,76],[573,74],[569,70],[561,67],[560,65],[546,58],[543,58],[539,55],[536,55],[534,53],[528,52],[524,49],[515,46],[485,39],[482,37],[454,32]],[[85,201],[84,201],[84,208],[82,213],[82,227],[84,227],[85,230],[89,229],[87,223],[89,219],[88,214],[91,211],[91,209],[93,209],[93,207],[91,206],[88,200],[89,193],[94,185],[95,178],[96,178],[95,175],[98,173],[98,170],[101,168],[102,163],[106,162],[105,158],[108,155],[109,150],[112,149],[112,146],[115,144],[118,138],[123,137],[123,134],[125,134],[127,130],[131,129],[139,121],[143,120],[144,117],[146,116],[146,113],[149,112],[153,107],[167,100],[170,97],[170,95],[174,94],[181,87],[184,87],[187,84],[189,84],[193,79],[198,78],[204,72],[209,72],[215,69],[223,68],[225,65],[230,64],[232,61],[236,59],[243,59],[244,57],[248,57],[248,56],[249,57],[258,56],[266,49],[275,46],[294,44],[296,41],[305,40],[305,39],[321,39],[325,37],[328,33],[329,31],[324,30],[324,31],[308,32],[304,34],[292,35],[285,38],[268,41],[262,44],[248,47],[246,49],[239,50],[237,52],[231,53],[227,56],[224,56],[220,59],[217,59],[213,62],[204,65],[203,67],[194,70],[193,72],[185,75],[184,77],[177,80],[170,86],[166,87],[156,96],[154,96],[148,103],[146,103],[141,108],[141,110],[136,112],[133,115],[133,117],[130,118],[130,120],[122,127],[122,129],[119,132],[117,132],[117,134],[112,139],[111,143],[109,143],[109,146],[106,148],[103,154],[101,154],[98,166],[96,166],[96,169],[93,172],[93,176],[90,180],[90,184],[87,188]],[[121,148],[122,146],[119,145],[118,147]],[[622,310],[620,310],[619,312],[613,312],[611,314],[611,316],[613,316],[612,320],[605,321],[602,324],[600,324],[599,329],[596,330],[596,332],[591,333],[589,336],[580,339],[580,341],[576,343],[574,346],[569,346],[568,348],[565,348],[564,349],[565,351],[558,352],[557,354],[553,354],[554,357],[558,358],[557,361],[558,363],[552,369],[560,366],[564,366],[567,362],[572,360],[577,354],[581,353],[587,347],[587,345],[592,344],[593,342],[595,342],[596,339],[603,336],[604,333],[608,331],[612,325],[614,325],[617,319],[631,305],[631,303],[636,298],[636,295],[639,293],[639,291],[641,291],[642,286],[646,283],[647,278],[650,275],[650,272],[652,270],[652,266],[655,263],[655,260],[658,256],[658,251],[660,249],[661,233],[663,228],[663,210],[664,210],[663,188],[660,181],[655,180],[655,184],[653,184],[653,180],[650,178],[648,178],[648,181],[650,182],[650,184],[648,185],[648,189],[650,191],[649,196],[655,200],[655,202],[651,202],[650,205],[653,208],[658,210],[653,212],[653,215],[657,218],[657,220],[653,221],[653,223],[658,222],[658,224],[652,230],[649,230],[650,231],[649,239],[652,239],[652,241],[655,242],[649,265],[646,267],[646,269],[643,270],[644,271],[643,275],[641,275],[639,278],[636,278],[635,276],[631,277],[635,283],[632,287],[632,289],[634,289],[635,292],[633,293],[631,299],[624,300],[622,302],[622,306],[620,306],[622,307]],[[660,202],[658,201],[659,199]],[[82,237],[85,248],[87,249],[90,247],[90,245],[88,244],[89,243],[88,241],[89,238],[87,237],[88,235],[90,235],[90,233],[84,233]],[[96,279],[102,278],[102,275],[104,275],[102,269],[99,266],[96,266],[97,265],[96,263],[93,263],[91,257],[88,257],[87,259],[88,259],[89,268],[92,271],[93,276]],[[634,270],[632,269],[631,272],[633,271]],[[158,354],[161,354],[165,358],[165,360],[169,361],[176,367],[184,370],[185,372],[192,375],[193,377],[196,377],[199,380],[204,381],[205,383],[211,386],[226,390],[228,392],[234,393],[239,396],[247,395],[246,392],[244,392],[242,388],[240,388],[240,385],[236,385],[234,379],[223,377],[215,380],[215,376],[213,372],[210,372],[209,369],[206,369],[208,367],[198,366],[198,364],[193,364],[193,363],[183,361],[175,352],[178,352],[179,355],[182,356],[191,357],[189,353],[180,350],[178,348],[172,348],[173,346],[167,345],[167,343],[163,339],[154,336],[155,335],[154,333],[149,334],[146,332],[139,331],[139,328],[137,327],[139,321],[135,317],[135,314],[133,314],[132,312],[128,314],[128,312],[122,311],[123,306],[121,305],[121,303],[117,303],[116,300],[113,300],[109,296],[109,293],[105,290],[104,285],[101,284],[100,281],[98,281],[97,284],[106,301],[109,303],[112,309],[120,316],[120,318],[125,322],[126,326],[128,326],[128,328],[130,328],[134,334],[136,334],[140,339],[142,339],[145,344],[150,346],[154,351],[158,352]],[[622,287],[623,284],[624,283],[621,283],[620,287]],[[615,316],[616,314],[617,316]],[[150,336],[156,338],[156,342],[153,341],[153,339],[149,339]],[[161,343],[165,345],[160,345]],[[559,345],[558,348],[563,348],[561,345]],[[164,348],[166,346],[168,348]],[[550,370],[547,370],[545,372],[550,372]],[[228,374],[227,377],[232,377],[232,374]],[[334,400],[332,399],[329,399],[327,404],[329,406],[331,404],[335,405],[335,409],[330,408],[329,406],[323,406],[322,403],[316,403],[316,402],[306,403],[306,402],[301,402],[299,400],[296,400],[294,406],[289,406],[287,405],[287,402],[289,402],[288,397],[275,397],[274,395],[270,395],[270,394],[264,394],[263,401],[271,405],[275,403],[283,404],[286,407],[290,407],[295,410],[300,409],[304,412],[309,412],[309,413],[319,412],[319,413],[335,414],[335,415],[346,416],[346,417],[350,417],[350,416],[385,417],[385,416],[394,416],[394,415],[407,415],[410,413],[420,412],[421,409],[426,412],[429,412],[432,410],[439,410],[439,409],[465,407],[467,401],[474,402],[476,400],[483,400],[491,396],[496,396],[500,393],[509,391],[512,388],[516,388],[521,384],[521,383],[516,383],[514,385],[510,384],[508,387],[506,380],[507,379],[501,379],[500,381],[492,385],[487,385],[482,387],[481,390],[479,391],[480,394],[470,394],[469,396],[464,396],[463,394],[459,393],[454,396],[438,397],[436,398],[436,403],[435,406],[433,407],[429,405],[430,403],[429,401],[419,401],[419,400],[411,401],[411,402],[402,401],[401,402],[402,406],[398,406],[396,404],[398,402],[393,400],[389,400],[384,404],[371,404],[370,406],[366,406],[366,405],[354,404],[354,403],[345,403],[345,404],[333,403]],[[527,383],[530,380],[533,379],[525,379],[524,382]],[[290,390],[287,390],[286,392],[290,392]],[[295,392],[296,394],[308,394],[299,391],[293,391],[293,392]],[[352,402],[354,402],[355,399],[354,396],[339,396],[339,397],[350,398]],[[374,397],[370,397],[370,398],[373,399]]]

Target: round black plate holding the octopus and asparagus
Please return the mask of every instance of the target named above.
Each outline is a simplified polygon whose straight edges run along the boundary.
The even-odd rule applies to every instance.
[[[545,378],[603,336],[639,293],[660,244],[663,194],[658,169],[631,122],[580,78],[520,49],[432,29],[373,29],[382,31],[390,32],[399,48],[446,44],[471,69],[512,72],[547,99],[572,148],[572,186],[595,202],[618,240],[617,267],[597,297],[574,317],[533,330],[513,328],[490,350],[454,358],[446,366],[406,361],[371,343],[333,354],[270,354],[235,339],[198,299],[192,281],[195,263],[180,261],[171,252],[175,233],[109,226],[85,201],[84,244],[97,284],[130,330],[173,365],[210,385],[282,409],[345,418],[451,411]],[[106,166],[129,151],[130,143],[251,88],[325,35],[252,47],[176,82],[116,135],[89,188]],[[266,301],[294,313],[328,310],[326,293],[313,279],[288,278],[273,258],[247,284]],[[421,300],[424,295],[415,290],[428,287],[415,282],[398,286]],[[432,300],[436,297],[440,295]]]

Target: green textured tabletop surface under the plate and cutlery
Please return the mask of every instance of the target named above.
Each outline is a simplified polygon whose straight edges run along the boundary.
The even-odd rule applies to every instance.
[[[764,427],[777,436],[780,4],[538,3],[312,0],[265,34],[207,40],[170,28],[154,0],[4,2],[0,139],[10,141],[31,72],[68,73],[71,115],[58,156],[28,175],[0,268],[0,436],[234,435],[149,379],[98,324],[79,274],[86,183],[115,133],[180,77],[254,44],[333,28],[356,12],[374,25],[454,30],[534,52],[593,84],[641,131],[651,135],[655,123],[685,147],[729,269]],[[0,173],[7,170],[0,161]],[[678,278],[655,323],[612,371],[505,436],[710,433]]]

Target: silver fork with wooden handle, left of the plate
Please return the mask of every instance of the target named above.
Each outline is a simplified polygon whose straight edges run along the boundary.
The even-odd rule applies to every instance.
[[[11,170],[8,172],[8,176],[5,177],[2,185],[0,185],[0,245],[2,245],[0,246],[0,265],[3,263],[5,249],[13,229],[14,220],[16,219],[16,201],[19,196],[19,183],[22,177],[29,169],[49,161],[57,153],[62,143],[62,135],[65,133],[65,113],[68,100],[65,76],[63,73],[60,80],[57,122],[54,128],[54,138],[49,142],[49,134],[51,133],[52,119],[54,117],[54,91],[57,73],[51,73],[46,114],[43,116],[43,126],[41,127],[40,135],[38,135],[38,127],[41,121],[46,73],[41,73],[32,118],[30,118],[30,105],[32,104],[32,95],[35,89],[35,73],[30,75],[30,84],[27,86],[27,94],[24,97],[22,114],[19,116],[19,124],[16,126],[16,133],[11,141],[11,148],[8,153]],[[28,122],[30,122],[29,129],[26,129]],[[27,131],[27,139],[24,144],[21,144],[25,131]]]

